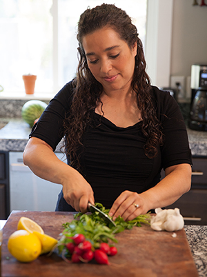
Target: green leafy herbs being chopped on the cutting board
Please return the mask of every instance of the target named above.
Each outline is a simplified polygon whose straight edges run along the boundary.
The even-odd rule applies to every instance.
[[[102,212],[108,214],[110,209],[103,207],[101,203],[96,203],[96,207]],[[108,215],[109,216],[109,215]],[[66,244],[72,241],[75,234],[83,234],[86,240],[92,243],[94,248],[99,247],[100,243],[117,243],[115,234],[123,232],[125,229],[132,229],[134,226],[141,227],[141,223],[150,224],[150,214],[137,216],[137,218],[129,221],[124,221],[121,216],[116,218],[116,226],[112,223],[107,223],[99,216],[99,212],[92,214],[82,214],[81,212],[74,215],[75,220],[70,223],[64,223],[64,230],[58,243],[59,252],[66,249]]]

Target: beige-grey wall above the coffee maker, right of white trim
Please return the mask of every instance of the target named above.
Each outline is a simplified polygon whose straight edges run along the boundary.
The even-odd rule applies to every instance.
[[[194,0],[173,2],[172,76],[190,76],[191,65],[207,64],[207,6],[193,6],[193,2]],[[200,4],[201,0],[197,2]]]

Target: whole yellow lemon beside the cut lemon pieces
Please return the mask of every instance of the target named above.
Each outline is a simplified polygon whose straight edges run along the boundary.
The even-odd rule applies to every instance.
[[[20,262],[28,263],[41,254],[41,242],[34,234],[18,230],[9,237],[8,250]]]

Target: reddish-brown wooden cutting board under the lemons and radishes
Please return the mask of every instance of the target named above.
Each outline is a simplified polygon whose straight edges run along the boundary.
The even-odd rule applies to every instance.
[[[110,265],[66,263],[57,254],[42,255],[32,263],[19,263],[7,249],[9,236],[17,230],[21,216],[36,221],[44,232],[55,238],[62,224],[73,220],[70,212],[19,212],[10,214],[3,228],[1,247],[2,277],[195,277],[198,276],[184,229],[156,232],[148,225],[133,227],[117,234],[118,254],[110,257]]]

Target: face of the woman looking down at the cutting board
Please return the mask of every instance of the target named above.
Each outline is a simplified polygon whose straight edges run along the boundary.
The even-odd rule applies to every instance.
[[[130,90],[135,70],[137,43],[132,49],[112,28],[102,28],[83,37],[90,72],[104,91]]]

